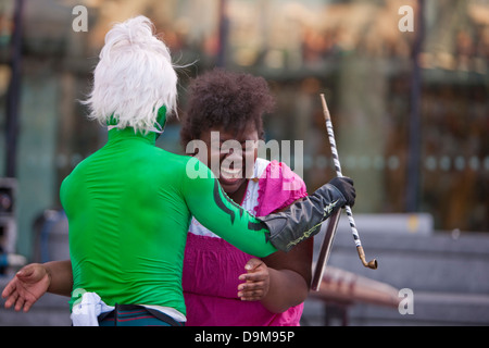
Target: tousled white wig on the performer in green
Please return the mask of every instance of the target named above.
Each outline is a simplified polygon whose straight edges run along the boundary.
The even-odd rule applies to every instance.
[[[154,129],[158,111],[176,111],[177,75],[170,50],[153,35],[145,16],[115,24],[105,36],[88,100],[91,120],[106,125],[113,116],[117,128]],[[162,126],[162,125],[161,125]]]

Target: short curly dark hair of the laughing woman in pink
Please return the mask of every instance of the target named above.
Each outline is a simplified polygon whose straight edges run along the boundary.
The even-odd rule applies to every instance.
[[[202,132],[220,126],[237,135],[253,123],[263,139],[262,116],[275,107],[263,77],[215,69],[195,78],[188,90],[180,130],[184,148]]]

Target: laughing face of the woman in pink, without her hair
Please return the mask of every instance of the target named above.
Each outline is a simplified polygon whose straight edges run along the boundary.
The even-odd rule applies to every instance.
[[[224,191],[230,197],[243,194],[258,156],[259,135],[254,125],[250,123],[236,135],[222,126],[212,127],[202,132],[200,139],[208,146],[206,163],[218,177]]]

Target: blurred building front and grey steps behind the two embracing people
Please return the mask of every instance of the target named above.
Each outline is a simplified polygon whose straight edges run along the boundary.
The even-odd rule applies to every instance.
[[[80,30],[75,24],[84,13],[74,11],[77,5],[87,10]],[[413,9],[412,17],[399,11],[405,5]],[[447,298],[454,303],[460,294],[469,294],[460,301],[476,320],[460,323],[489,324],[487,314],[469,314],[480,306],[489,309],[488,0],[0,0],[0,238],[5,254],[28,261],[67,256],[66,228],[59,228],[63,247],[47,245],[46,232],[63,219],[59,187],[106,138],[105,129],[85,119],[77,100],[90,89],[105,33],[114,22],[138,14],[153,21],[183,66],[180,112],[189,79],[214,66],[269,83],[277,109],[265,117],[267,140],[303,140],[303,157],[292,157],[289,165],[303,166],[310,192],[335,176],[319,99],[324,92],[343,174],[355,182],[359,232],[367,258],[378,253],[380,266],[364,271],[356,264],[348,226],[339,228],[331,264],[427,294],[426,301],[442,293],[455,296]],[[401,29],[406,18],[413,30]],[[173,121],[156,145],[184,153],[178,136],[179,124]],[[423,252],[428,261],[439,257],[440,264],[416,263]],[[383,271],[389,263],[383,254],[392,269]],[[447,269],[448,256],[473,263]],[[406,269],[412,272],[400,276]],[[322,324],[324,312],[314,312],[312,303],[304,323]],[[409,316],[397,310],[392,318],[372,314],[363,304],[347,314],[350,304],[337,309],[343,321],[350,315],[356,324]],[[446,302],[440,306],[447,309]],[[384,316],[367,323],[368,315]],[[443,311],[432,315],[410,320],[443,323],[450,316]]]

